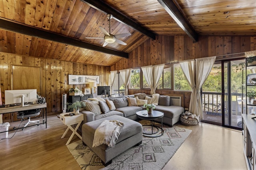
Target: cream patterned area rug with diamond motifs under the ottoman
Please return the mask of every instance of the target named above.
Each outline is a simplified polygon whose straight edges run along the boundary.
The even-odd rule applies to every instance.
[[[191,133],[189,129],[175,126],[164,126],[163,129],[164,135],[143,137],[140,146],[126,150],[106,167],[81,140],[67,147],[82,170],[161,170]]]

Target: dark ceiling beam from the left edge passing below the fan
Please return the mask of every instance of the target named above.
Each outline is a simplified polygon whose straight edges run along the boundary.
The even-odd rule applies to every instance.
[[[116,56],[119,56],[119,57],[128,58],[128,53],[124,53],[122,51],[108,49],[106,47],[102,47],[102,46],[99,46],[99,45],[94,45],[94,44],[91,44],[91,43],[80,41],[78,39],[66,37],[64,35],[60,35],[60,34],[53,33],[53,32],[50,32],[50,31],[46,31],[46,30],[43,30],[43,29],[31,27],[31,26],[28,26],[28,25],[25,25],[25,24],[22,24],[22,23],[3,20],[1,18],[0,18],[0,29],[5,29],[5,30],[8,30],[8,31],[13,31],[13,32],[21,33],[21,34],[25,34],[25,35],[30,35],[30,36],[33,36],[33,37],[48,39],[50,41],[55,41],[55,42],[58,42],[58,43],[64,43],[64,44],[73,45],[73,46],[76,46],[76,47],[81,47],[81,48],[84,48],[84,49],[98,51],[98,52],[101,52],[101,53],[107,53],[107,54],[110,54],[110,55],[116,55]]]

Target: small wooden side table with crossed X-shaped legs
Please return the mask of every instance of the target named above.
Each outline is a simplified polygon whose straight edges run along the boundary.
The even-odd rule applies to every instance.
[[[68,128],[66,129],[66,131],[62,135],[61,139],[65,137],[66,133],[68,132],[68,129],[70,129],[73,133],[70,136],[70,138],[68,139],[68,142],[66,143],[66,145],[68,145],[75,134],[80,139],[82,139],[81,135],[79,135],[77,133],[77,129],[80,126],[80,124],[82,123],[82,121],[84,120],[84,115],[79,114],[79,115],[73,115],[73,116],[70,116],[70,115],[65,116],[65,114],[68,114],[68,113],[60,113],[60,121],[62,121],[62,123],[64,123],[64,125],[67,125]],[[74,125],[74,124],[77,124],[75,129],[71,126],[71,125]]]

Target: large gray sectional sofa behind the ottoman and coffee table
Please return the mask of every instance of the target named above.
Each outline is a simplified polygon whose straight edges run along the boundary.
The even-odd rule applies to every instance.
[[[90,122],[90,121],[94,121],[94,120],[98,120],[98,119],[102,119],[104,117],[109,117],[112,115],[120,115],[123,117],[127,117],[129,119],[132,120],[136,120],[137,116],[136,116],[136,111],[138,110],[142,110],[143,105],[139,105],[139,106],[131,106],[131,104],[128,102],[128,98],[138,98],[139,100],[145,100],[145,98],[148,97],[152,97],[151,95],[146,95],[146,94],[134,94],[134,95],[128,95],[128,96],[119,96],[119,97],[113,97],[113,98],[106,98],[105,100],[110,100],[114,103],[115,109],[114,110],[107,110],[104,109],[104,107],[102,105],[100,105],[100,103],[102,104],[103,101],[98,101],[98,106],[96,104],[97,100],[95,100],[95,107],[100,107],[101,109],[101,113],[93,113],[95,111],[91,110],[91,109],[81,109],[80,112],[84,114],[84,121],[82,122],[82,125],[84,123]],[[144,98],[144,99],[143,99]],[[164,112],[164,117],[163,117],[163,123],[166,125],[169,125],[170,127],[172,127],[175,123],[177,123],[180,120],[180,114],[184,112],[184,107],[181,106],[175,106],[172,101],[172,97],[171,96],[163,96],[160,95],[158,98],[158,106],[156,106],[155,110],[159,110],[159,111],[163,111]],[[108,109],[108,108],[107,108]],[[91,111],[89,111],[91,110]],[[98,109],[97,109],[98,110]],[[156,121],[161,121],[156,120]]]

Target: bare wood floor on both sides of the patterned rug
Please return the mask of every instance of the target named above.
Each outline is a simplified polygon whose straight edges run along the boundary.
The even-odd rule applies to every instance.
[[[71,131],[60,139],[66,130],[56,115],[47,117],[45,125],[27,127],[24,131],[9,132],[0,141],[1,170],[80,170],[76,160],[65,146]],[[177,150],[163,170],[246,170],[242,133],[200,123]],[[79,140],[74,137],[72,142]]]

